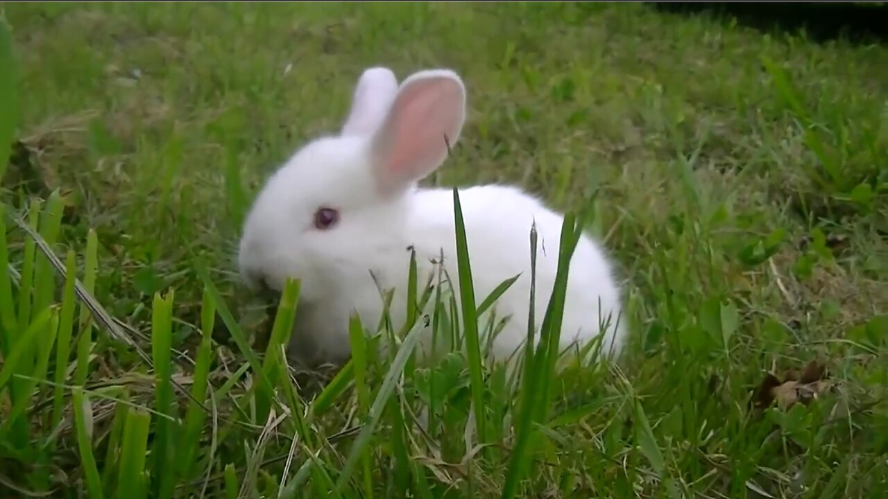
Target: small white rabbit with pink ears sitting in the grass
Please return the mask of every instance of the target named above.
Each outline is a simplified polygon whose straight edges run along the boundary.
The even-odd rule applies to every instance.
[[[267,180],[246,219],[239,265],[253,288],[301,281],[290,356],[347,360],[349,317],[357,312],[365,326],[375,326],[384,311],[380,288],[394,289],[390,313],[400,328],[410,249],[421,284],[438,275],[434,262],[443,254],[458,298],[452,190],[417,182],[444,162],[464,118],[465,88],[453,71],[419,71],[399,88],[392,71],[372,67],[359,79],[340,134],[301,147]],[[562,217],[516,187],[472,186],[459,194],[476,299],[520,275],[494,308],[497,320],[511,316],[491,350],[506,359],[527,337],[531,225],[538,234],[538,331],[557,272]],[[604,324],[602,351],[621,350],[626,328],[611,266],[583,236],[568,277],[562,348],[599,336]]]

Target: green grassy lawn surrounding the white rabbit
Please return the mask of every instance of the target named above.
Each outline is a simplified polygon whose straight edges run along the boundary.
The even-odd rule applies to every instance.
[[[0,495],[888,491],[883,46],[644,4],[4,16]],[[422,365],[422,318],[385,324],[400,344],[385,355],[363,334],[376,319],[356,318],[353,360],[297,389],[281,345],[298,282],[268,317],[237,281],[240,224],[375,64],[464,76],[468,122],[429,183],[516,183],[577,215],[595,191],[588,226],[619,265],[632,325],[621,359],[551,374],[543,346],[524,367],[538,376],[513,379],[469,335],[468,356]],[[441,334],[488,327],[471,301],[405,285],[434,300]],[[832,383],[816,400],[750,407],[768,373],[812,360]]]

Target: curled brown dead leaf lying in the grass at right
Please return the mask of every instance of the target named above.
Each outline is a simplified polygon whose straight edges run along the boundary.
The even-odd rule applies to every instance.
[[[826,366],[812,360],[799,373],[795,369],[787,370],[783,379],[767,373],[753,395],[753,403],[757,408],[768,408],[776,401],[777,407],[786,410],[801,402],[805,405],[817,399],[822,392],[829,390],[832,384],[826,379]]]

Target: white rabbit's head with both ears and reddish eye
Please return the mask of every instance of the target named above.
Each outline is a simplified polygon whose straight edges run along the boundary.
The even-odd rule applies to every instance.
[[[242,278],[278,290],[297,278],[302,303],[366,275],[369,254],[394,250],[410,194],[444,162],[464,116],[453,71],[420,71],[400,87],[386,68],[364,71],[339,134],[301,147],[258,194],[243,228]]]

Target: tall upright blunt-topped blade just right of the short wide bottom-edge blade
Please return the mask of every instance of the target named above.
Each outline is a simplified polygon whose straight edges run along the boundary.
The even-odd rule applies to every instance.
[[[151,352],[155,364],[155,410],[170,417],[175,417],[172,408],[172,384],[170,383],[173,298],[172,290],[166,297],[161,297],[160,293],[155,294],[151,316]],[[172,455],[175,432],[176,427],[169,419],[158,418],[154,448],[151,454],[154,458],[155,497],[161,499],[172,495],[175,473],[170,468],[170,463],[175,462]]]

